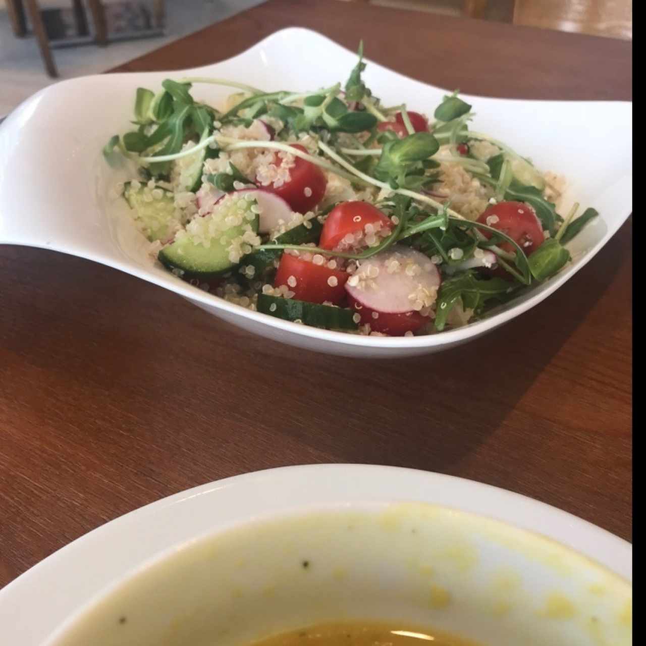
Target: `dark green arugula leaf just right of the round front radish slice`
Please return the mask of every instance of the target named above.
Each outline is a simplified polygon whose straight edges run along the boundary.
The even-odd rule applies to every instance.
[[[464,309],[473,309],[476,313],[481,313],[487,302],[506,302],[513,298],[514,291],[514,284],[508,280],[478,278],[473,271],[446,278],[437,294],[435,329],[440,332],[444,329],[446,319],[458,301],[462,302]]]

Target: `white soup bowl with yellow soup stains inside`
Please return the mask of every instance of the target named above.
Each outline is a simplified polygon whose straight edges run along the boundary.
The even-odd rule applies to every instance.
[[[377,481],[390,486],[390,495]],[[433,488],[441,484],[484,487],[409,470],[324,465],[186,492],[182,500],[191,505],[210,492],[219,501],[210,510],[211,530],[120,574],[46,646],[242,646],[282,630],[353,619],[434,627],[483,646],[631,643],[626,579],[535,532],[425,502],[437,499]],[[284,498],[273,499],[281,491]],[[530,512],[535,523],[545,517],[545,528],[559,517],[559,530],[569,526],[571,539],[588,531],[567,514],[546,514],[545,505],[499,495],[509,503],[506,514],[519,506],[521,523]],[[177,503],[172,498],[165,507]],[[203,501],[202,514],[209,514]],[[122,526],[130,541],[145,540],[151,514],[142,516],[139,533]],[[598,538],[592,550],[609,547],[603,534],[590,534]],[[623,541],[614,540],[621,552]],[[111,543],[95,543],[94,552],[78,550],[81,560],[102,558],[99,546],[110,558]]]

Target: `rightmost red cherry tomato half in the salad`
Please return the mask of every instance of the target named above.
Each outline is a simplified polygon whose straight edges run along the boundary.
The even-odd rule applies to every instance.
[[[497,219],[496,219],[497,218]],[[499,229],[514,240],[526,255],[532,254],[545,242],[543,227],[530,205],[523,202],[499,202],[485,209],[478,217],[478,222]],[[483,231],[487,238],[492,234]],[[515,249],[509,242],[500,244],[500,248],[510,253]]]

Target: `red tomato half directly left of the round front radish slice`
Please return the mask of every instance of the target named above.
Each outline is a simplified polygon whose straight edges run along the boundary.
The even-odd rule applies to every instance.
[[[329,300],[337,305],[346,298],[344,286],[349,274],[339,269],[330,269],[327,262],[328,260],[325,264],[315,265],[311,260],[284,253],[276,271],[274,286],[286,285],[294,292],[297,300],[307,300],[310,303]]]

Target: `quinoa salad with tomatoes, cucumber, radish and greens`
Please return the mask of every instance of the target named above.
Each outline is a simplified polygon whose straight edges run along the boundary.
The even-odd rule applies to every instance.
[[[563,178],[472,130],[458,92],[384,105],[362,49],[318,90],[137,90],[134,129],[103,154],[136,162],[117,189],[155,262],[238,306],[377,336],[463,326],[570,262],[597,211],[559,213]],[[235,92],[194,98],[209,83]]]

